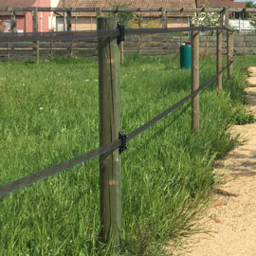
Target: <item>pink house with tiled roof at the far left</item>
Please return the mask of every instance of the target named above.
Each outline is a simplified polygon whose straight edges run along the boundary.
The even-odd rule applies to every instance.
[[[0,0],[0,8],[31,8],[51,7],[51,0]],[[0,32],[10,32],[10,12],[0,12]],[[38,13],[38,31],[49,30],[52,14]],[[18,32],[32,32],[32,13],[30,11],[17,12],[16,23]]]

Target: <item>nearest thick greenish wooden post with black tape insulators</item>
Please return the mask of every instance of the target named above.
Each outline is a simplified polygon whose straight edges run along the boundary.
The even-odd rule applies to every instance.
[[[117,18],[98,18],[98,29],[117,27]],[[119,138],[119,46],[117,38],[99,38],[100,145]],[[119,150],[100,156],[101,239],[120,246],[121,158]]]

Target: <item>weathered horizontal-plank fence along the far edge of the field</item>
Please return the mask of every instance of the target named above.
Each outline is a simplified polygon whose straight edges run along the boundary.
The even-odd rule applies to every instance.
[[[189,36],[134,36],[125,39],[124,53],[140,55],[165,55],[179,52],[179,46],[190,41]],[[223,37],[223,53],[227,53],[226,37]],[[0,45],[0,61],[22,61],[36,59],[36,46],[33,43],[7,43]],[[215,54],[216,37],[200,36],[200,54]],[[234,36],[236,54],[256,54],[255,36]],[[42,42],[39,44],[41,59],[55,55],[77,57],[98,56],[98,39],[73,42]]]

